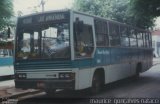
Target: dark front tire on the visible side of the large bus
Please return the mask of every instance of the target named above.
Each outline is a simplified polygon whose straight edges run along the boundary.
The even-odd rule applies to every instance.
[[[91,94],[95,95],[99,93],[102,87],[101,85],[102,85],[102,81],[100,79],[100,74],[95,73],[92,78]]]

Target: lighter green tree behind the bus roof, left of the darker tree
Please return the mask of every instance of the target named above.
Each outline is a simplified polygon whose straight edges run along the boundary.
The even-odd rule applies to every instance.
[[[73,8],[115,21],[129,23],[130,0],[76,0]]]

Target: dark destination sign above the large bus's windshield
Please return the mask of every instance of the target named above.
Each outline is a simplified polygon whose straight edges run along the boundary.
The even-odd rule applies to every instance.
[[[48,13],[24,17],[20,20],[20,24],[27,25],[33,23],[45,23],[52,21],[61,21],[69,19],[69,13]]]

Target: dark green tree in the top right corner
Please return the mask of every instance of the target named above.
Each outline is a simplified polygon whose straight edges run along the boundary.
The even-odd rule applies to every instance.
[[[160,16],[160,0],[131,0],[135,23],[141,28],[154,26],[154,19]]]

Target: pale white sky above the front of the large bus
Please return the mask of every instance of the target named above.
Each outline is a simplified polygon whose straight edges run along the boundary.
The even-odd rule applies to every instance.
[[[74,0],[44,0],[45,11],[71,8]],[[17,15],[18,11],[21,11],[23,15],[31,14],[37,8],[38,11],[42,11],[39,7],[41,0],[14,0],[14,12]]]

